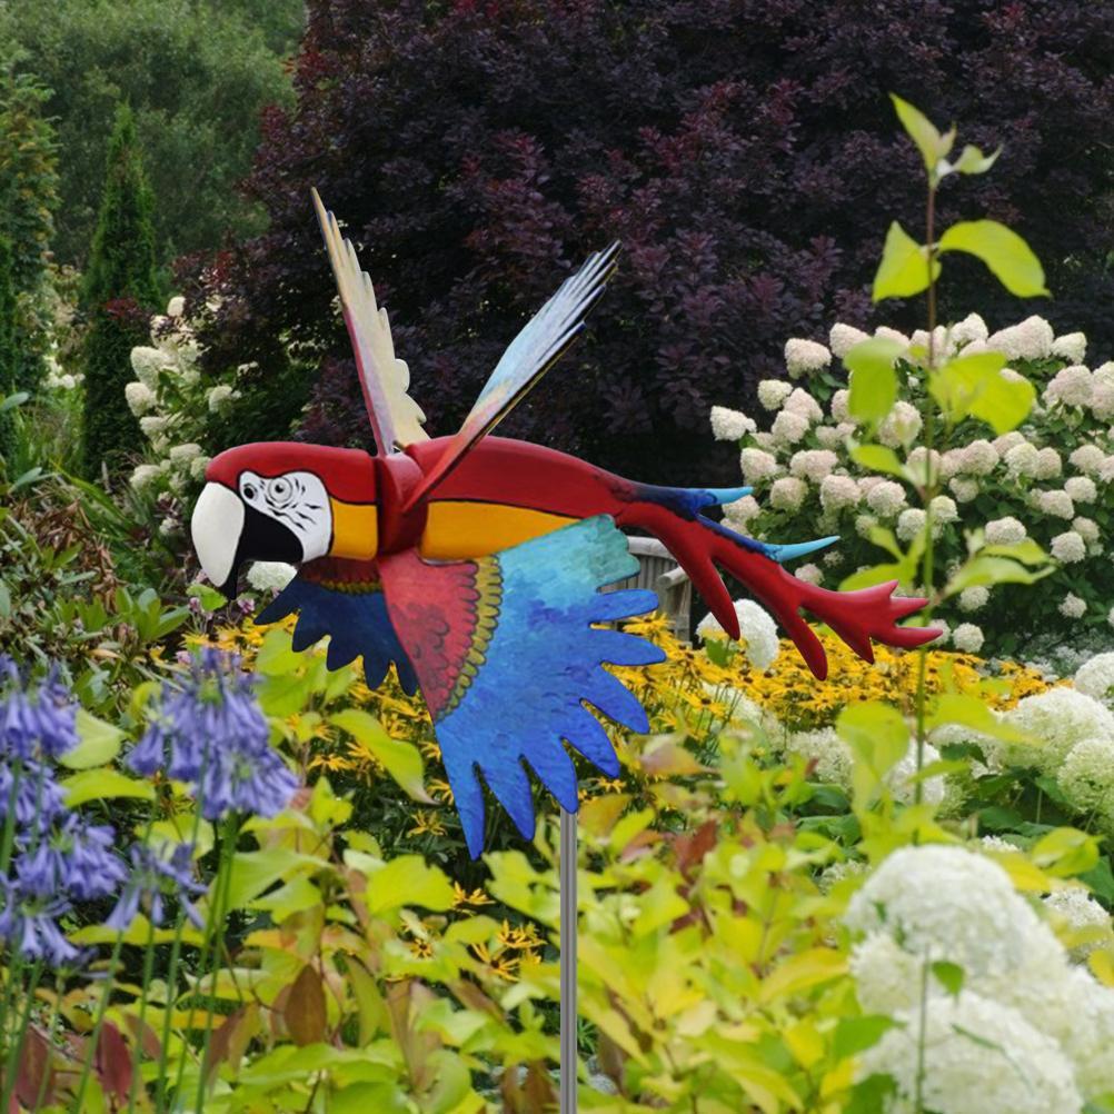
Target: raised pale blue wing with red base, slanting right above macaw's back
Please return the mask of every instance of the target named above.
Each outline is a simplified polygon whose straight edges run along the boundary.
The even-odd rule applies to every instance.
[[[584,266],[566,278],[553,297],[527,322],[496,364],[465,423],[414,489],[403,508],[409,510],[431,491],[485,433],[508,414],[526,392],[560,358],[584,328],[584,317],[604,291],[615,270],[619,245],[588,256]]]

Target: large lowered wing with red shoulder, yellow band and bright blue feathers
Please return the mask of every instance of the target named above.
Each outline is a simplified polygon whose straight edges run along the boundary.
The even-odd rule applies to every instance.
[[[589,518],[490,557],[429,564],[413,550],[380,561],[388,613],[426,694],[472,857],[483,847],[480,775],[526,839],[527,770],[569,812],[576,771],[565,740],[605,773],[618,760],[585,704],[634,731],[642,705],[603,662],[649,665],[657,646],[595,623],[641,615],[653,592],[600,593],[637,571],[610,518]]]

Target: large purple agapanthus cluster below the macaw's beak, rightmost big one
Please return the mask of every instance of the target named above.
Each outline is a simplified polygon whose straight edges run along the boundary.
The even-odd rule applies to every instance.
[[[233,810],[273,817],[290,801],[297,779],[271,746],[254,688],[255,678],[240,668],[238,658],[203,649],[180,688],[163,687],[155,719],[128,765],[193,784],[208,820]]]

